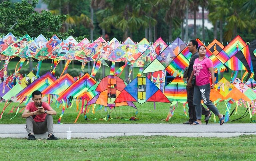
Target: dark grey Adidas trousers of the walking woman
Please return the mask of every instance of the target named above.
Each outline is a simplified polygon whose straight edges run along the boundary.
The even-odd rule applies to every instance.
[[[202,109],[201,109],[201,101],[203,99],[204,104],[215,114],[219,115],[219,110],[214,106],[214,104],[210,101],[210,83],[203,86],[195,86],[194,87],[194,98],[193,105],[195,105],[196,109],[196,118],[201,120]]]

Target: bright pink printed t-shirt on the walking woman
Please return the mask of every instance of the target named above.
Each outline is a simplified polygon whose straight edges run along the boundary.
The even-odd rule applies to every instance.
[[[195,60],[193,69],[196,75],[196,85],[202,86],[210,83],[211,73],[208,68],[213,67],[212,60],[209,58],[204,58],[199,62],[199,58]]]

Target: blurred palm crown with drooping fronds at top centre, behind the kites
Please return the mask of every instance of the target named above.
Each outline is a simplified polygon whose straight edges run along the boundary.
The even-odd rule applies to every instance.
[[[132,33],[141,27],[146,28],[149,23],[156,23],[155,19],[146,14],[146,9],[152,9],[146,0],[109,0],[106,4],[106,8],[96,13],[99,26],[104,26],[107,31],[110,31],[112,26],[121,30],[124,33],[123,40],[132,37]]]

